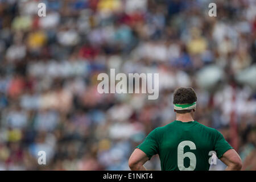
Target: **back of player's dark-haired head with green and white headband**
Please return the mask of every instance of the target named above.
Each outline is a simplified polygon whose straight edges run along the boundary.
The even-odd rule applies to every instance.
[[[176,113],[190,113],[196,107],[196,92],[192,88],[177,88],[174,91],[174,110]]]

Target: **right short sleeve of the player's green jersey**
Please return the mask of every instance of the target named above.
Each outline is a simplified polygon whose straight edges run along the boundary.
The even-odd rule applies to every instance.
[[[214,151],[216,151],[218,159],[220,159],[226,151],[232,148],[233,147],[230,146],[230,144],[225,140],[223,135],[216,130],[216,142],[214,146]]]

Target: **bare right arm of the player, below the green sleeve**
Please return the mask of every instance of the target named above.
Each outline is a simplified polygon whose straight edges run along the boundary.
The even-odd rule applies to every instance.
[[[226,151],[220,159],[226,166],[226,171],[240,171],[242,168],[242,160],[234,149]]]

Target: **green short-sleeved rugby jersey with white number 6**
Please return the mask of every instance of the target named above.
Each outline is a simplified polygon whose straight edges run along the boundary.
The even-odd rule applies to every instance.
[[[163,171],[208,171],[213,152],[220,159],[233,147],[216,129],[197,121],[174,121],[151,131],[137,148],[149,159],[158,154]]]

